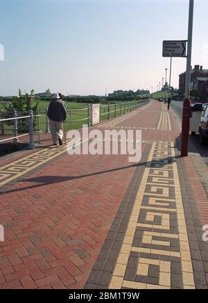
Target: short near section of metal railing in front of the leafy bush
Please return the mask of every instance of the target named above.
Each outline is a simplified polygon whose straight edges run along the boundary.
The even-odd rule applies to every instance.
[[[27,115],[24,115],[25,113],[27,113]],[[11,113],[3,113],[1,111],[1,117],[2,115],[11,115]],[[34,117],[37,117],[37,131],[34,130]],[[38,139],[39,139],[39,143],[40,143],[40,133],[42,131],[40,131],[40,113],[39,111],[37,111],[37,113],[35,113],[35,115],[33,114],[33,110],[30,110],[29,112],[18,112],[15,110],[13,112],[13,117],[8,117],[8,118],[4,118],[4,119],[0,119],[0,124],[1,124],[1,135],[5,135],[5,131],[11,131],[11,129],[5,129],[4,124],[12,124],[13,129],[13,136],[10,137],[10,135],[8,135],[8,138],[5,138],[3,140],[0,140],[0,143],[2,142],[7,142],[7,141],[11,141],[13,140],[14,143],[19,142],[19,138],[24,137],[24,136],[29,136],[29,145],[28,148],[29,149],[34,149],[35,145],[34,145],[34,139],[33,139],[33,135],[34,133],[38,134]],[[28,124],[24,124],[24,120],[28,120]],[[19,134],[19,122],[21,121],[21,127],[28,126],[28,132],[27,133],[22,133]]]

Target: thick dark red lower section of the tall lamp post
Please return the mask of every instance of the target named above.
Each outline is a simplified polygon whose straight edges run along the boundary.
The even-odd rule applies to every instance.
[[[189,123],[190,123],[191,103],[189,98],[184,99],[182,117],[182,137],[181,137],[181,156],[187,157],[189,154]]]

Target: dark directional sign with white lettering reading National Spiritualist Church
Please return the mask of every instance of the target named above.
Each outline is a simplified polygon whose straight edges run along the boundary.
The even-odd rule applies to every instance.
[[[164,41],[162,49],[163,57],[186,57],[187,41]]]

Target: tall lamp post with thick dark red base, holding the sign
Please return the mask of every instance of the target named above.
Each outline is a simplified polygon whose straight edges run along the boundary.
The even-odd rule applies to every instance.
[[[187,72],[185,99],[183,104],[182,116],[182,138],[181,138],[181,156],[188,156],[189,153],[189,123],[190,123],[190,80],[191,80],[191,52],[193,36],[193,7],[194,0],[189,0],[189,31],[188,31],[188,50],[187,50]]]

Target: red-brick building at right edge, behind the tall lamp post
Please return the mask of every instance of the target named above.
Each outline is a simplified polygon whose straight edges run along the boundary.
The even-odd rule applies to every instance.
[[[179,75],[179,90],[185,93],[186,72]],[[208,69],[200,65],[191,68],[191,90],[198,90],[201,101],[208,101]]]

